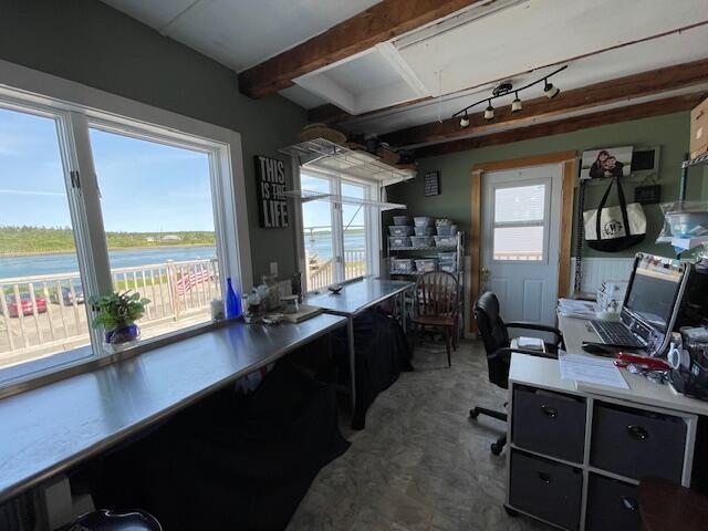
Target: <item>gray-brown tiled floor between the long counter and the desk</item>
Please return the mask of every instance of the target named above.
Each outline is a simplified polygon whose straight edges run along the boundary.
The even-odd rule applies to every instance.
[[[471,406],[500,409],[506,399],[487,381],[481,344],[462,342],[452,368],[441,345],[424,344],[414,365],[378,396],[366,429],[345,430],[352,447],[320,472],[288,530],[550,529],[507,516],[507,450],[489,450],[503,423],[468,419]]]

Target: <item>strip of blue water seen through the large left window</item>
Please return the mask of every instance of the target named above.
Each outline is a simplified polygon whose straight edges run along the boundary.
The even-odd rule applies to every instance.
[[[108,251],[111,268],[129,268],[167,260],[198,260],[216,258],[214,247],[171,247],[162,249],[123,249]],[[0,257],[0,279],[34,274],[72,273],[79,271],[75,253]]]

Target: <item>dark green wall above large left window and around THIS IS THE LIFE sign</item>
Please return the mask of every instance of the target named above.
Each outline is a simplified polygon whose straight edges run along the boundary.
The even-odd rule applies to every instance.
[[[253,155],[285,159],[277,149],[306,123],[300,106],[243,96],[233,71],[97,0],[0,0],[0,59],[239,132],[253,278],[271,261],[295,271],[292,228],[258,227]]]

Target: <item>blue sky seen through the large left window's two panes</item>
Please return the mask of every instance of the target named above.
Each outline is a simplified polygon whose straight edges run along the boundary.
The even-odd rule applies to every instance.
[[[214,230],[206,154],[91,131],[107,231]],[[56,128],[0,110],[0,226],[71,226]]]

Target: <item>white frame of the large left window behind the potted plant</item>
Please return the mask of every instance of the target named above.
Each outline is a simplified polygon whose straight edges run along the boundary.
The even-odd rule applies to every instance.
[[[239,133],[2,60],[0,107],[54,118],[56,122],[64,185],[86,296],[113,290],[96,171],[88,137],[90,127],[93,126],[206,153],[209,157],[219,266],[223,272],[220,278],[221,291],[227,277],[235,279],[235,288],[242,289],[243,285],[252,284],[243,156]],[[79,171],[79,188],[72,186],[72,171]],[[167,342],[195,335],[210,326],[214,326],[214,323],[186,326],[145,340],[137,346],[117,354],[106,353],[101,348],[102,333],[90,326],[88,346],[59,352],[1,369],[0,373],[12,371],[9,371],[9,377],[0,376],[0,396],[13,394],[18,388],[25,389],[28,386],[34,387],[70,374],[90,371]],[[64,361],[51,363],[55,356]],[[25,367],[27,371],[18,367]]]

